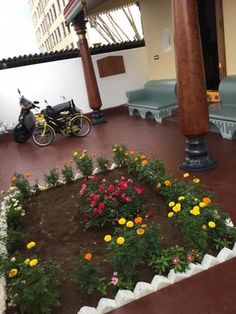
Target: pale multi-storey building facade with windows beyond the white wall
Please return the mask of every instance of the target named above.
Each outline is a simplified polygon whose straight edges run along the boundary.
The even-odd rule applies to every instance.
[[[68,0],[29,0],[31,17],[41,52],[76,48],[73,30],[65,25]]]

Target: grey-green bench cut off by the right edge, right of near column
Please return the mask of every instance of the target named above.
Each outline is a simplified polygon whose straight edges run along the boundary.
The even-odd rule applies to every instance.
[[[210,130],[231,140],[236,137],[236,75],[220,82],[219,94],[221,102],[209,107]]]

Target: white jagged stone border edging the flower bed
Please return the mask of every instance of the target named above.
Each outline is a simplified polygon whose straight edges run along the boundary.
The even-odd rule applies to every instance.
[[[117,168],[116,164],[112,164],[109,170],[113,170]],[[94,169],[93,174],[99,173],[100,170],[98,168]],[[83,177],[80,173],[75,175],[75,180]],[[61,184],[65,184],[65,182],[60,181]],[[45,190],[45,186],[39,186],[40,190]],[[12,189],[12,194],[15,193],[15,190]],[[9,195],[9,194],[8,194]],[[6,234],[6,205],[5,198],[3,198],[1,204],[1,212],[0,212],[0,235]],[[229,219],[228,225],[233,227],[232,221]],[[5,252],[6,248],[0,244],[0,253]],[[171,269],[168,275],[160,276],[155,275],[151,281],[151,283],[140,281],[135,285],[133,291],[131,290],[119,290],[116,293],[114,299],[109,298],[101,298],[98,302],[97,307],[91,306],[83,306],[77,314],[105,314],[112,310],[115,310],[125,304],[138,300],[148,294],[159,291],[162,288],[165,288],[169,285],[172,285],[178,281],[194,276],[202,271],[205,271],[213,266],[216,266],[220,263],[228,261],[229,259],[236,257],[236,243],[232,250],[224,247],[217,255],[214,257],[212,255],[206,254],[202,260],[202,263],[189,264],[189,269],[185,272],[175,272],[174,269]],[[0,278],[0,314],[4,314],[6,311],[6,281],[5,278]]]

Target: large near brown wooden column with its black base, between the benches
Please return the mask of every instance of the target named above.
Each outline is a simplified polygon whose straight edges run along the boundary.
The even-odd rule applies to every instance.
[[[180,128],[186,139],[186,171],[215,167],[204,142],[209,116],[196,0],[172,0]]]

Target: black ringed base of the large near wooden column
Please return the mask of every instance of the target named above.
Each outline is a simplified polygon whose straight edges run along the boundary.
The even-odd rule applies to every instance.
[[[186,156],[180,168],[188,172],[209,171],[216,167],[216,162],[209,155],[204,136],[187,138],[185,140]]]

